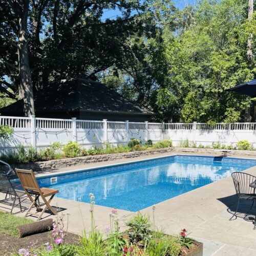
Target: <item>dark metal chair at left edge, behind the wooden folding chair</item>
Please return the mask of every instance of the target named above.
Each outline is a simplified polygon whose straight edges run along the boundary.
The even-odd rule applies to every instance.
[[[5,163],[4,161],[0,160],[2,163],[6,164],[9,167],[10,165]],[[6,194],[5,199],[0,200],[0,203],[8,204],[10,201],[11,203],[11,214],[13,211],[13,208],[16,206],[19,206],[20,211],[22,211],[22,202],[27,198],[27,195],[24,190],[19,189],[22,188],[20,184],[12,184],[8,173],[5,172],[5,170],[0,170],[0,192]],[[16,203],[17,202],[17,203]],[[26,209],[26,207],[25,207]]]

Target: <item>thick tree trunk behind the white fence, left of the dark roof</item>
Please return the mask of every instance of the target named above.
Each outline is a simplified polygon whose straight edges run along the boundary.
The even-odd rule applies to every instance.
[[[18,58],[19,58],[19,95],[24,99],[25,116],[35,114],[33,84],[29,67],[28,49],[28,11],[29,0],[23,1],[23,10],[19,12],[18,24]]]

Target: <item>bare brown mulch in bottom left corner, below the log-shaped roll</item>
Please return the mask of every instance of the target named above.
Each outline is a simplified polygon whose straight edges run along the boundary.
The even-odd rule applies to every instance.
[[[76,234],[67,233],[65,243],[75,244],[79,240]],[[33,234],[25,238],[13,238],[7,234],[0,234],[0,255],[6,256],[17,252],[21,248],[27,248],[30,242],[36,242],[37,246],[50,242],[49,232]]]

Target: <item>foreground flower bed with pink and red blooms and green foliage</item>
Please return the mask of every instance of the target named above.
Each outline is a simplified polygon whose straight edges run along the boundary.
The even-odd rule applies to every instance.
[[[155,226],[155,210],[153,209],[153,221],[147,215],[138,213],[126,223],[126,231],[120,232],[118,211],[110,212],[110,226],[105,233],[96,228],[94,221],[95,197],[91,199],[91,230],[84,231],[77,244],[66,243],[63,216],[53,225],[50,231],[51,242],[47,245],[36,246],[35,243],[27,248],[20,248],[18,255],[97,255],[97,256],[179,256],[202,255],[202,243],[188,237],[187,230],[182,229],[179,235],[168,236]]]

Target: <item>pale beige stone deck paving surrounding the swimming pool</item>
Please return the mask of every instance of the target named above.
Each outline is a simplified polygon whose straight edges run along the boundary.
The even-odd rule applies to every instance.
[[[193,153],[189,154],[191,155]],[[197,153],[194,154],[200,155]],[[154,157],[164,155],[169,156],[174,155],[174,153],[154,155]],[[153,156],[143,156],[131,159],[131,161],[152,157]],[[92,163],[84,166],[77,165],[73,166],[73,169],[121,162],[127,162],[127,159],[108,161],[108,163]],[[55,172],[63,172],[64,170],[71,169],[71,167],[61,168],[55,170]],[[51,173],[52,172],[53,171],[51,171]],[[246,173],[256,176],[256,166],[247,169]],[[3,197],[3,194],[0,195],[0,199],[1,196]],[[55,198],[53,205],[63,208],[61,212],[66,214],[65,219],[66,222],[69,223],[68,229],[70,232],[81,233],[83,226],[85,226],[88,231],[91,223],[89,204]],[[242,218],[248,209],[248,204],[242,205],[240,218],[233,221],[228,220],[231,217],[228,211],[233,212],[236,205],[237,197],[235,195],[233,182],[231,177],[228,177],[156,204],[156,224],[159,228],[162,227],[165,233],[168,234],[179,233],[182,228],[186,228],[191,232],[191,237],[204,243],[204,255],[256,255],[256,230],[252,229],[253,224],[251,221],[245,221]],[[3,210],[2,206],[3,205],[0,204],[0,210]],[[111,208],[95,205],[94,216],[99,229],[103,230],[105,227],[109,226],[110,210]],[[254,212],[253,210],[252,212]],[[145,208],[141,210],[141,212],[152,216],[151,208]],[[118,210],[118,214],[120,224],[123,226],[125,221],[131,218],[135,213]],[[18,213],[17,215],[24,216],[24,212]],[[48,214],[45,214],[44,217],[55,218]],[[29,218],[35,220],[33,217]],[[252,219],[254,217],[248,216],[247,218]],[[67,221],[67,219],[69,220]]]

